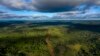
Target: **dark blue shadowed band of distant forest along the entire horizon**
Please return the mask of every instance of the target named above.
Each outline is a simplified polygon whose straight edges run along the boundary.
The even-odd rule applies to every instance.
[[[79,21],[77,21],[79,22]],[[26,21],[7,21],[7,22],[0,22],[0,27],[11,27],[18,25],[26,25],[28,27],[41,27],[41,26],[59,26],[59,25],[65,25],[67,28],[71,30],[88,30],[93,32],[100,32],[100,23],[98,24],[92,24],[87,22],[87,24],[84,24],[85,21],[82,23],[74,23],[74,22],[28,22],[26,24]],[[96,22],[94,22],[96,23]]]

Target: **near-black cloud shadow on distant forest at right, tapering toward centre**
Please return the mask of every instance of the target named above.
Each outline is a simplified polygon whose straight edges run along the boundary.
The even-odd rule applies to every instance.
[[[59,26],[65,25],[66,28],[70,30],[88,30],[93,32],[100,32],[100,24],[81,24],[81,23],[72,23],[72,22],[45,22],[45,23],[38,23],[34,25],[34,27],[40,26]]]

